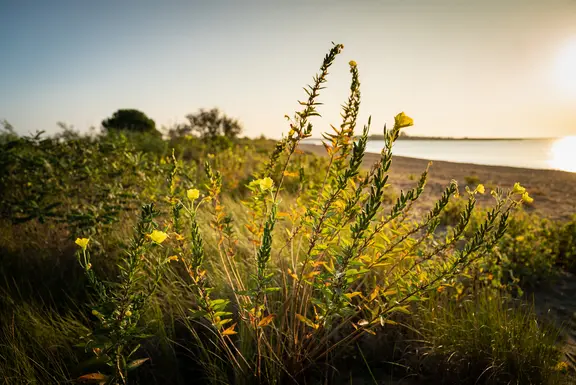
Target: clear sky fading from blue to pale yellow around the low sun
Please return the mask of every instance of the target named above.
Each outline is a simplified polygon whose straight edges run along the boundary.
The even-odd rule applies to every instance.
[[[0,0],[0,119],[87,131],[136,108],[169,127],[219,107],[279,138],[331,42],[315,137],[350,60],[373,134],[404,111],[411,135],[576,135],[576,0]]]

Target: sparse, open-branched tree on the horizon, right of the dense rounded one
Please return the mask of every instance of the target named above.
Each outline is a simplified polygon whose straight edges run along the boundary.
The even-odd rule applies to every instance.
[[[176,127],[177,136],[195,133],[202,139],[212,140],[221,136],[234,139],[242,132],[240,122],[226,116],[218,108],[211,110],[201,108],[196,114],[187,115],[186,119],[187,124]]]

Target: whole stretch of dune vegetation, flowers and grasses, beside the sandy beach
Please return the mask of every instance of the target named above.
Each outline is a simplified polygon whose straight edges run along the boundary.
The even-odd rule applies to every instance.
[[[342,49],[277,143],[5,126],[1,382],[570,383],[561,326],[525,292],[576,273],[576,220],[526,214],[520,184],[422,201],[432,169],[394,190],[413,121],[366,165],[353,61],[326,156],[303,153]]]

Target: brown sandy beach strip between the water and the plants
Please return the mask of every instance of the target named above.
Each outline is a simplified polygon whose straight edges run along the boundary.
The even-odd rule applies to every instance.
[[[323,146],[302,144],[302,151],[325,156]],[[369,167],[379,159],[379,154],[367,153],[364,164]],[[428,160],[395,156],[390,170],[390,183],[397,189],[409,189],[426,169]],[[433,161],[430,167],[425,195],[439,197],[444,187],[455,179],[463,189],[468,181],[478,181],[489,191],[500,186],[511,188],[515,182],[525,186],[534,203],[526,206],[526,211],[536,212],[551,219],[567,219],[576,214],[576,173],[555,170],[534,170],[528,168],[484,166],[468,163]],[[475,187],[475,184],[470,187]],[[463,191],[463,190],[461,190]],[[491,202],[490,194],[479,196],[480,204]]]

